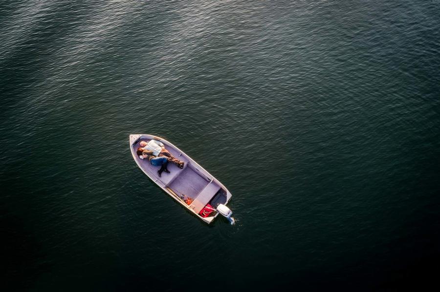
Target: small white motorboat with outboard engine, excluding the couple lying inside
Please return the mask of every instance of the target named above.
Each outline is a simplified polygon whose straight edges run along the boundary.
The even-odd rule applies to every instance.
[[[158,167],[151,165],[148,159],[142,159],[136,154],[141,141],[149,142],[152,139],[162,142],[168,152],[178,160],[183,161],[183,168],[179,168],[173,163],[168,163],[170,172],[163,172],[159,176],[157,172]],[[176,146],[157,136],[130,135],[130,150],[137,166],[151,180],[202,221],[210,224],[220,213],[231,224],[234,224],[235,220],[231,217],[232,212],[226,207],[226,204],[232,197],[231,193],[219,180]]]

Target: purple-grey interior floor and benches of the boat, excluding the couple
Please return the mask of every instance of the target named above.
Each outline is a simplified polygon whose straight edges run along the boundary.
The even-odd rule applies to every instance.
[[[148,142],[148,138],[139,138],[133,144],[132,148],[134,153],[139,146],[140,141]],[[209,174],[199,169],[198,165],[192,163],[186,155],[178,151],[172,145],[161,140],[167,149],[174,157],[184,161],[185,165],[183,169],[178,168],[173,163],[168,163],[168,170],[170,173],[163,172],[159,177],[157,171],[159,167],[150,164],[148,159],[141,159],[138,156],[135,158],[138,160],[141,167],[145,172],[154,180],[160,181],[168,191],[177,195],[180,198],[191,198],[187,204],[195,212],[199,213],[207,204],[217,208],[219,204],[226,203],[226,191],[223,190],[214,178],[209,177]]]

